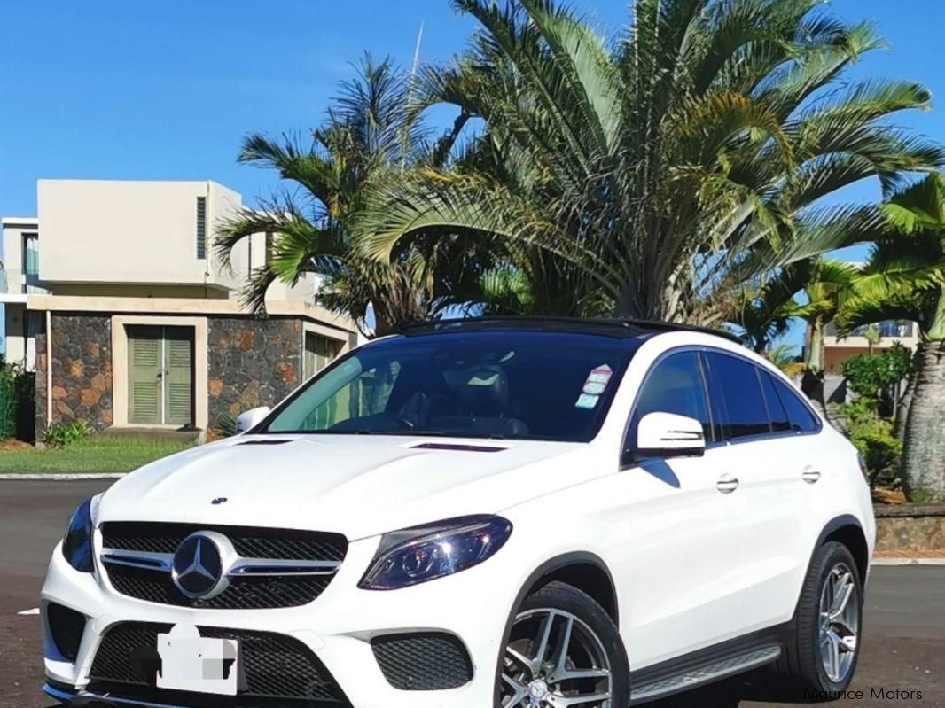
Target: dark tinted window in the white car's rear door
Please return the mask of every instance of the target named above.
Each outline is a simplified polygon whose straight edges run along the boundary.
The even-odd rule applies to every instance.
[[[726,354],[706,352],[709,397],[713,401],[716,437],[737,440],[771,431],[758,367]]]

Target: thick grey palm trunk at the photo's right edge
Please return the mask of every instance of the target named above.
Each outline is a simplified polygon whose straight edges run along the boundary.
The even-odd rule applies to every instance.
[[[945,341],[922,341],[902,441],[902,487],[910,501],[945,500]]]

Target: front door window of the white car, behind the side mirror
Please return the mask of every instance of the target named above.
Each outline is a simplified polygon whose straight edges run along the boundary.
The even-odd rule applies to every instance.
[[[702,368],[695,351],[670,354],[647,374],[633,409],[633,434],[647,413],[676,413],[695,418],[702,424],[706,440],[712,440]]]

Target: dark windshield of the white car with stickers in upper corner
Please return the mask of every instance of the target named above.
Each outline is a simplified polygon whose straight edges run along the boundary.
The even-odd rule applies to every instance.
[[[633,348],[628,340],[549,332],[385,340],[325,369],[263,431],[587,442]]]

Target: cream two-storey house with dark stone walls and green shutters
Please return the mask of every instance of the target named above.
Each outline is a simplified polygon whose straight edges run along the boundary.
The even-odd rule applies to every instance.
[[[266,234],[215,262],[239,194],[205,181],[41,179],[37,216],[2,219],[6,357],[36,372],[38,430],[213,428],[271,405],[357,340],[318,306],[319,279],[274,283],[269,316],[239,303]]]

